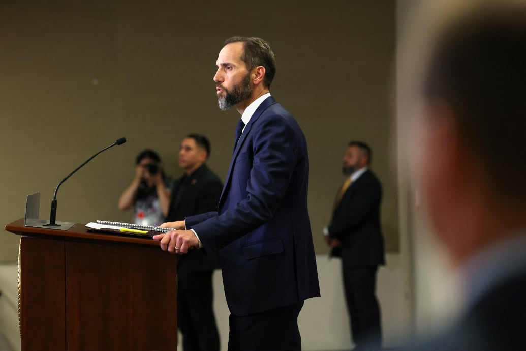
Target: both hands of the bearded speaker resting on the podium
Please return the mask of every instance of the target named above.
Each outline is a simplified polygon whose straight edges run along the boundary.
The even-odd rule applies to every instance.
[[[160,227],[184,229],[185,221],[163,223]],[[154,235],[153,239],[160,240],[161,250],[170,254],[187,254],[189,249],[199,247],[199,239],[192,230],[170,230],[168,233]]]

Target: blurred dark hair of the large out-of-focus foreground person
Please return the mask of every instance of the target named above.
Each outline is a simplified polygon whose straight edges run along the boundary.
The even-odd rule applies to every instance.
[[[446,29],[424,95],[452,108],[492,188],[526,200],[526,6],[485,7]]]

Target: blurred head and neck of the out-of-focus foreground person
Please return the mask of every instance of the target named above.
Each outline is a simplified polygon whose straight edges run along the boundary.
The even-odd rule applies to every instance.
[[[526,229],[526,4],[456,16],[432,41],[423,77],[419,182],[461,263]]]

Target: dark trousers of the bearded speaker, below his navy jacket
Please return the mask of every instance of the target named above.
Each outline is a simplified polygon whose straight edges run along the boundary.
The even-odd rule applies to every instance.
[[[298,315],[303,304],[245,317],[230,315],[228,351],[300,351]]]

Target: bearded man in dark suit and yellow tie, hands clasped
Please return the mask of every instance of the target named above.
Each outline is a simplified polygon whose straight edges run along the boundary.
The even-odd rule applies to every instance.
[[[371,148],[351,142],[343,155],[347,177],[334,203],[332,220],[324,228],[331,256],[341,257],[343,287],[355,350],[381,347],[380,307],[376,273],[384,264],[380,229],[382,187],[369,169]]]

